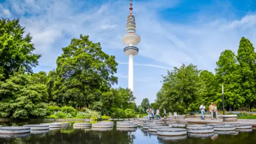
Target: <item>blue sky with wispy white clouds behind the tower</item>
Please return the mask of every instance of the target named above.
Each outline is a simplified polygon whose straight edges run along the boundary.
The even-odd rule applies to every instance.
[[[136,103],[156,99],[161,75],[182,63],[213,71],[221,51],[237,51],[242,36],[256,43],[256,1],[133,0],[137,34],[142,38],[134,58]],[[57,56],[71,38],[89,35],[119,62],[114,87],[127,87],[125,34],[129,0],[0,0],[0,17],[21,18],[33,36],[40,66],[54,69]]]

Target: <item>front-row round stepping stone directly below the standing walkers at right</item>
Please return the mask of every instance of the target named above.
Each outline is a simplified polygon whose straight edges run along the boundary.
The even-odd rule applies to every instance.
[[[202,138],[214,135],[214,128],[211,126],[206,127],[187,127],[188,136]]]

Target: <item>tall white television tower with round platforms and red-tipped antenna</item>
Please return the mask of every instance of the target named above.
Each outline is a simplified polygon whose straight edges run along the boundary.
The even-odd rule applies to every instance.
[[[136,56],[139,49],[135,47],[140,42],[140,37],[136,32],[135,16],[132,15],[132,0],[130,0],[130,15],[127,16],[126,32],[122,37],[124,44],[129,45],[124,48],[124,54],[129,56],[129,75],[128,75],[128,88],[133,91],[133,56]]]

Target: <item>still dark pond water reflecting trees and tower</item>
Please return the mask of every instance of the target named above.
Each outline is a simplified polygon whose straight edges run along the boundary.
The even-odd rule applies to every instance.
[[[2,126],[23,126],[27,124],[39,124],[46,122],[0,122]],[[31,134],[26,138],[12,138],[2,139],[0,143],[179,143],[179,144],[220,144],[220,143],[256,143],[256,130],[248,133],[238,133],[237,135],[218,135],[215,134],[212,138],[187,138],[184,140],[163,140],[157,135],[152,135],[148,132],[144,132],[139,127],[135,132],[125,132],[116,130],[116,127],[111,131],[98,132],[89,129],[73,129],[73,123],[71,122],[70,128],[61,128],[60,130],[50,130],[46,134]]]

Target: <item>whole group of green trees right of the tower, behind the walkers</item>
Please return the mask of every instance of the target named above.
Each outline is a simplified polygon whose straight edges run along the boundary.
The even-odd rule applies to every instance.
[[[225,109],[251,110],[256,104],[256,53],[253,44],[241,38],[238,55],[224,50],[216,62],[215,75],[196,66],[184,64],[168,71],[163,76],[163,86],[157,93],[155,107],[168,112],[186,113],[198,111],[203,102],[210,102],[222,109],[222,84],[224,86]]]

